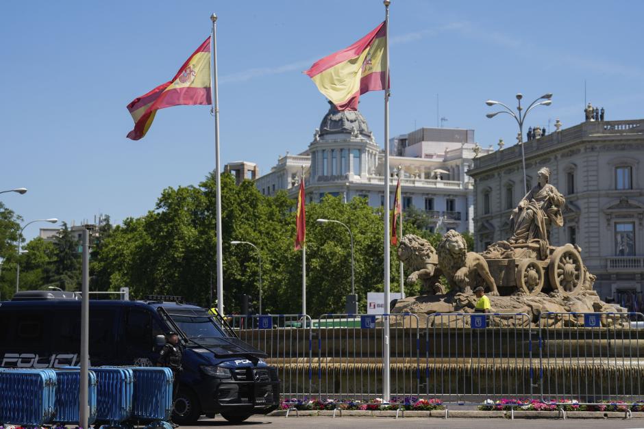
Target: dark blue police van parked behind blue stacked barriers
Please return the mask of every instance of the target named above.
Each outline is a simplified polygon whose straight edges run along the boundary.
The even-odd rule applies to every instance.
[[[238,422],[279,405],[277,370],[219,316],[175,297],[90,300],[90,365],[156,365],[169,330],[184,346],[173,420],[200,415]],[[72,292],[24,291],[0,302],[1,367],[79,365],[80,300]]]

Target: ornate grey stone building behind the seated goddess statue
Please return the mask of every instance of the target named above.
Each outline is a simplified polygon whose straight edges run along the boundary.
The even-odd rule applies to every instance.
[[[597,276],[602,299],[642,311],[644,276],[644,119],[586,121],[525,142],[528,190],[547,166],[565,196],[564,226],[552,227],[553,246],[572,243]],[[519,145],[476,157],[475,250],[508,239],[510,214],[523,197]]]

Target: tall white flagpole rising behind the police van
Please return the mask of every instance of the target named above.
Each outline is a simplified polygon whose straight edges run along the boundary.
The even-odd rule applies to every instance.
[[[223,255],[221,251],[221,169],[219,159],[219,97],[217,96],[217,38],[216,38],[216,14],[210,16],[212,21],[212,39],[210,49],[212,49],[212,113],[214,114],[214,158],[216,162],[215,181],[216,181],[216,240],[217,240],[217,313],[223,317]]]

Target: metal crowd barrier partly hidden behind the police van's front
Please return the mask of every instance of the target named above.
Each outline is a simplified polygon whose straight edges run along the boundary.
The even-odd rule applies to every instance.
[[[229,315],[242,341],[262,350],[277,368],[282,398],[312,397],[312,322],[308,315]]]

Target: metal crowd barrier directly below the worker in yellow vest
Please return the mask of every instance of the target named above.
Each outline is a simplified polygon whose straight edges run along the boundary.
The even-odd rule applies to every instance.
[[[525,313],[435,313],[425,326],[425,395],[445,404],[532,398]]]

